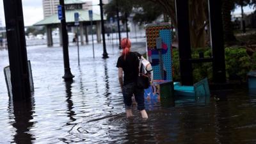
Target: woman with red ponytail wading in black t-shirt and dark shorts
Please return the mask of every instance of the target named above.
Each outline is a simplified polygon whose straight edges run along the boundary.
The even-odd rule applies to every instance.
[[[139,74],[138,56],[140,56],[140,54],[130,51],[131,42],[128,38],[121,40],[121,47],[123,52],[122,56],[118,58],[116,67],[118,67],[118,80],[124,97],[126,116],[127,118],[132,116],[132,95],[134,95],[142,118],[148,118],[144,106],[144,90],[136,87],[136,80]]]

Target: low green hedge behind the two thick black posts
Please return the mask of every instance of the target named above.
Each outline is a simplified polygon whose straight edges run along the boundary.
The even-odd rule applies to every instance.
[[[192,58],[199,58],[198,53],[204,52],[204,58],[211,58],[211,49],[192,49]],[[256,70],[256,53],[250,58],[244,47],[225,49],[226,74],[230,81],[246,81],[246,74]],[[173,81],[180,81],[179,50],[173,49]],[[212,63],[194,63],[193,81],[197,82],[204,77],[212,81]]]

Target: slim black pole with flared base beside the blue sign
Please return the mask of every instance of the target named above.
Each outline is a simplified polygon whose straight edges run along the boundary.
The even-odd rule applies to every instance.
[[[63,59],[64,59],[64,70],[65,74],[62,77],[65,81],[72,81],[73,75],[69,66],[69,56],[68,56],[68,33],[67,33],[67,24],[66,24],[66,16],[65,16],[65,4],[64,0],[60,0],[62,19],[61,19],[61,31],[62,31],[62,47],[63,47]]]

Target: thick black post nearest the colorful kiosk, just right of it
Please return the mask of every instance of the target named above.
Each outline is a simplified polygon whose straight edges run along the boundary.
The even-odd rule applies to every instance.
[[[193,84],[188,0],[175,0],[179,39],[180,78],[182,85]]]

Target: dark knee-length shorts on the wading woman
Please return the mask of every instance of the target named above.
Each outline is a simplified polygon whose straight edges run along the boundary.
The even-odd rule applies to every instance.
[[[138,110],[145,109],[144,106],[144,90],[137,88],[135,83],[125,84],[123,86],[123,97],[125,109],[131,109],[132,106],[132,95],[134,94],[134,98],[138,104]]]

